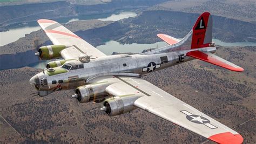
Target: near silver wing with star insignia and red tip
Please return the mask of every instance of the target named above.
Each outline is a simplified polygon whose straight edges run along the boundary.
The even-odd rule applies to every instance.
[[[166,93],[146,80],[136,77],[119,77],[119,82],[106,88],[114,95],[139,95],[134,106],[173,122],[194,133],[218,143],[242,143],[243,138],[233,129],[210,118],[196,108]]]

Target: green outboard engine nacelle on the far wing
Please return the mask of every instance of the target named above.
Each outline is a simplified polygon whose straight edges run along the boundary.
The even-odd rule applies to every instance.
[[[65,45],[48,45],[41,46],[36,55],[38,55],[41,59],[53,59],[61,57],[60,51],[66,49]]]

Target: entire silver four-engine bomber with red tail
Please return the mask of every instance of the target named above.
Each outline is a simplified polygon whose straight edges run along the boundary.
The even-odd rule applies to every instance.
[[[74,89],[79,102],[102,102],[107,115],[141,108],[217,143],[242,143],[242,136],[196,108],[142,79],[147,73],[200,59],[232,71],[244,71],[213,53],[212,16],[202,13],[181,40],[158,34],[168,46],[140,54],[106,56],[59,23],[39,19],[53,45],[42,46],[36,55],[51,61],[30,83],[43,97]]]

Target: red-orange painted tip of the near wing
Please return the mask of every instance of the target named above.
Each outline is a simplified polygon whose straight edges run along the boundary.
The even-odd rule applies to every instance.
[[[231,132],[215,134],[208,139],[217,143],[242,143],[244,141],[240,134],[232,134]]]

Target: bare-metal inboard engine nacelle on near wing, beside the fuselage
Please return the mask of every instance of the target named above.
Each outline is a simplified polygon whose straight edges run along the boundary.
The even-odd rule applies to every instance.
[[[77,100],[81,103],[89,102],[89,101],[101,101],[108,97],[105,92],[105,88],[109,86],[111,83],[99,83],[99,84],[91,84],[85,86],[79,86],[76,89],[76,94],[72,95],[72,97],[77,98]]]

